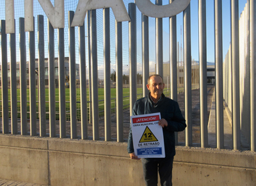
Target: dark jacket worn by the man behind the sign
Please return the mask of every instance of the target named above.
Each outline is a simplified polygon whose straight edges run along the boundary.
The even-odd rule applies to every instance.
[[[159,102],[157,102],[157,104],[154,104],[154,102],[151,100],[150,93],[147,97],[137,100],[132,109],[132,116],[152,114],[156,112],[160,112],[161,118],[164,118],[168,123],[168,126],[163,128],[165,157],[173,157],[175,155],[174,132],[184,130],[187,126],[186,120],[182,116],[179,104],[174,100],[165,97],[164,94],[162,94],[161,99]],[[131,125],[127,151],[128,153],[134,152]]]

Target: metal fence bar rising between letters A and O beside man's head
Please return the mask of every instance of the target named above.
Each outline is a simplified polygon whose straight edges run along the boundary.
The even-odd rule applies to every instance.
[[[136,4],[129,3],[129,85],[130,85],[130,114],[137,100],[137,34],[136,34]]]

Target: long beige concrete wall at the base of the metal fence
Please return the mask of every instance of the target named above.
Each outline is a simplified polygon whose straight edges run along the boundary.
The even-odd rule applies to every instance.
[[[126,143],[0,134],[0,178],[44,185],[145,185]],[[255,185],[250,151],[177,147],[173,185]]]

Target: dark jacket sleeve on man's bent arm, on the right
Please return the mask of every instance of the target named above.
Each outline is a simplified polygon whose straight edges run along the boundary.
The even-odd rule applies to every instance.
[[[180,111],[179,104],[174,102],[174,112],[173,112],[173,120],[168,120],[168,126],[166,129],[172,132],[179,132],[184,130],[186,125],[186,120],[183,118],[182,113]]]

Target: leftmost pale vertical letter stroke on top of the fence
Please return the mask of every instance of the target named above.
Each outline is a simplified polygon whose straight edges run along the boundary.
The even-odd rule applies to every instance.
[[[6,34],[12,34],[14,29],[14,0],[5,0],[5,24]]]

